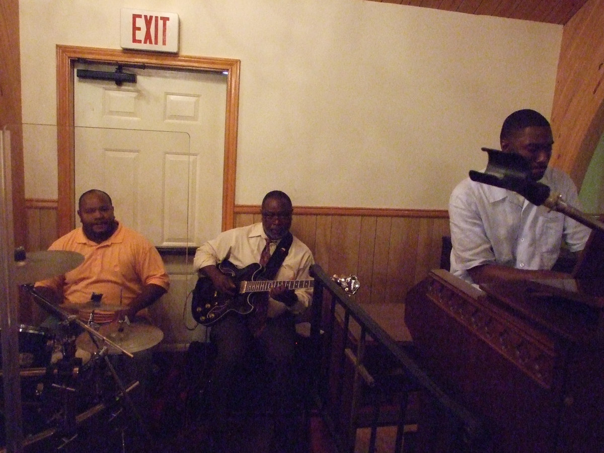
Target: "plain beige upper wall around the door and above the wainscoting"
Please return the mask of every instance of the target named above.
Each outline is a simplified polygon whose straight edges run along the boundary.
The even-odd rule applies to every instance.
[[[297,205],[445,209],[509,112],[551,112],[559,25],[362,0],[21,0],[24,123],[56,124],[55,45],[119,48],[121,7],[178,13],[181,54],[241,60],[237,204],[281,188]],[[56,198],[27,153],[26,197]]]

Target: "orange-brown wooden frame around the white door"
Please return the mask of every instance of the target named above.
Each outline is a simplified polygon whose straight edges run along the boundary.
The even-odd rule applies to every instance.
[[[225,151],[222,181],[222,230],[234,226],[237,121],[240,60],[179,56],[92,47],[57,45],[57,234],[73,229],[76,164],[74,127],[74,65],[79,61],[110,65],[144,65],[155,69],[191,69],[226,73]]]

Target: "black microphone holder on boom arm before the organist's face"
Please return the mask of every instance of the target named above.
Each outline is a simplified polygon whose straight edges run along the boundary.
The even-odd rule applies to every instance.
[[[562,195],[551,191],[548,185],[533,181],[530,178],[530,167],[526,159],[516,153],[481,148],[489,154],[489,163],[485,173],[470,170],[472,181],[494,185],[521,194],[536,206],[544,205],[553,211],[558,211],[571,219],[577,220],[593,230],[604,232],[604,223],[582,213],[582,211],[569,205]]]

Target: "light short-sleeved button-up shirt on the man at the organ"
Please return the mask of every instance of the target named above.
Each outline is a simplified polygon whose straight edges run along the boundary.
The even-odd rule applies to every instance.
[[[548,167],[543,184],[579,208],[570,177]],[[585,247],[590,228],[557,211],[535,206],[521,195],[492,185],[460,182],[449,199],[451,272],[472,282],[467,269],[495,263],[516,269],[551,269],[562,241],[571,252]]]

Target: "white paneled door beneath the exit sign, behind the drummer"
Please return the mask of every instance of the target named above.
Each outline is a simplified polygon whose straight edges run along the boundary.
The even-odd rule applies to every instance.
[[[100,188],[111,195],[118,220],[160,250],[171,248],[162,254],[170,292],[152,313],[163,344],[185,347],[203,335],[185,328],[194,326],[184,306],[196,281],[193,250],[222,223],[226,76],[124,68],[137,82],[118,86],[79,79],[77,69],[115,66],[75,69],[76,204],[84,191]]]

